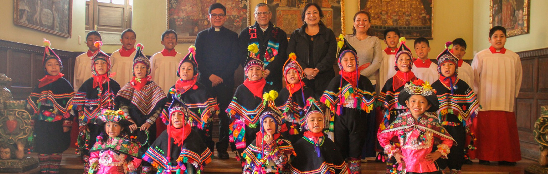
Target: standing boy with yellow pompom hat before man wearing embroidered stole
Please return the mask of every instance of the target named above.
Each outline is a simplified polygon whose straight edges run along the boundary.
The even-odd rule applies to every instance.
[[[255,133],[259,132],[259,114],[267,107],[267,100],[272,100],[272,105],[275,105],[274,100],[278,97],[278,92],[262,78],[264,64],[257,59],[259,48],[256,44],[251,44],[248,51],[248,59],[243,67],[246,79],[238,86],[232,102],[226,108],[231,120],[229,141],[232,150],[238,150],[236,160],[240,160],[239,155],[243,149],[251,144]],[[271,94],[272,97],[265,98],[263,94]]]

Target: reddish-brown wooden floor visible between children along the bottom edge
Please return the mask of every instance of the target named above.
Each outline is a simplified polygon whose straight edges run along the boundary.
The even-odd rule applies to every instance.
[[[73,148],[69,148],[63,153],[63,158],[61,161],[61,173],[72,174],[72,173],[82,173],[83,164],[81,163],[79,156],[76,155]],[[36,157],[36,153],[32,153],[32,156]],[[211,163],[209,163],[202,173],[241,173],[241,167],[239,161],[236,161],[234,158],[235,154],[230,154],[230,159],[221,160],[214,158]],[[496,162],[492,165],[480,165],[477,164],[477,160],[472,165],[464,165],[462,173],[472,174],[472,173],[494,173],[494,174],[522,174],[524,169],[531,165],[535,164],[535,161],[522,159],[518,161],[515,166],[499,166],[496,165]],[[368,158],[368,163],[362,163],[362,173],[370,174],[384,174],[385,173],[385,164],[378,163],[374,161],[374,158]]]

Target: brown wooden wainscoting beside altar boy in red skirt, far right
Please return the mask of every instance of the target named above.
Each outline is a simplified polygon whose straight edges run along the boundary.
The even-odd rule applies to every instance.
[[[523,158],[538,161],[539,145],[533,138],[536,119],[540,117],[540,106],[548,105],[548,48],[521,51],[523,69],[520,94],[515,111]]]

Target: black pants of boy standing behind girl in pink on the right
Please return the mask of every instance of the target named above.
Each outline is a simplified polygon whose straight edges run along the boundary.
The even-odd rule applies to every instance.
[[[439,158],[436,162],[439,164],[439,169],[456,169],[460,170],[464,163],[464,146],[466,141],[466,128],[463,125],[459,126],[443,126],[449,132],[449,135],[455,139],[451,152],[447,154],[447,159]]]

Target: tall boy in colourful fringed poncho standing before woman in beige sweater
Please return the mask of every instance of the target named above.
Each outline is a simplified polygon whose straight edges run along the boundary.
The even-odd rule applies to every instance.
[[[368,118],[374,117],[371,111],[375,101],[375,89],[366,76],[359,74],[355,49],[346,39],[341,42],[338,60],[341,70],[327,85],[321,102],[332,112],[329,115],[333,115],[329,125],[334,126],[329,127],[329,131],[334,135],[329,135],[329,138],[335,141],[341,155],[349,161],[351,173],[361,173],[361,154],[366,142],[364,139],[374,141],[376,138],[367,136],[367,126],[373,126]]]

